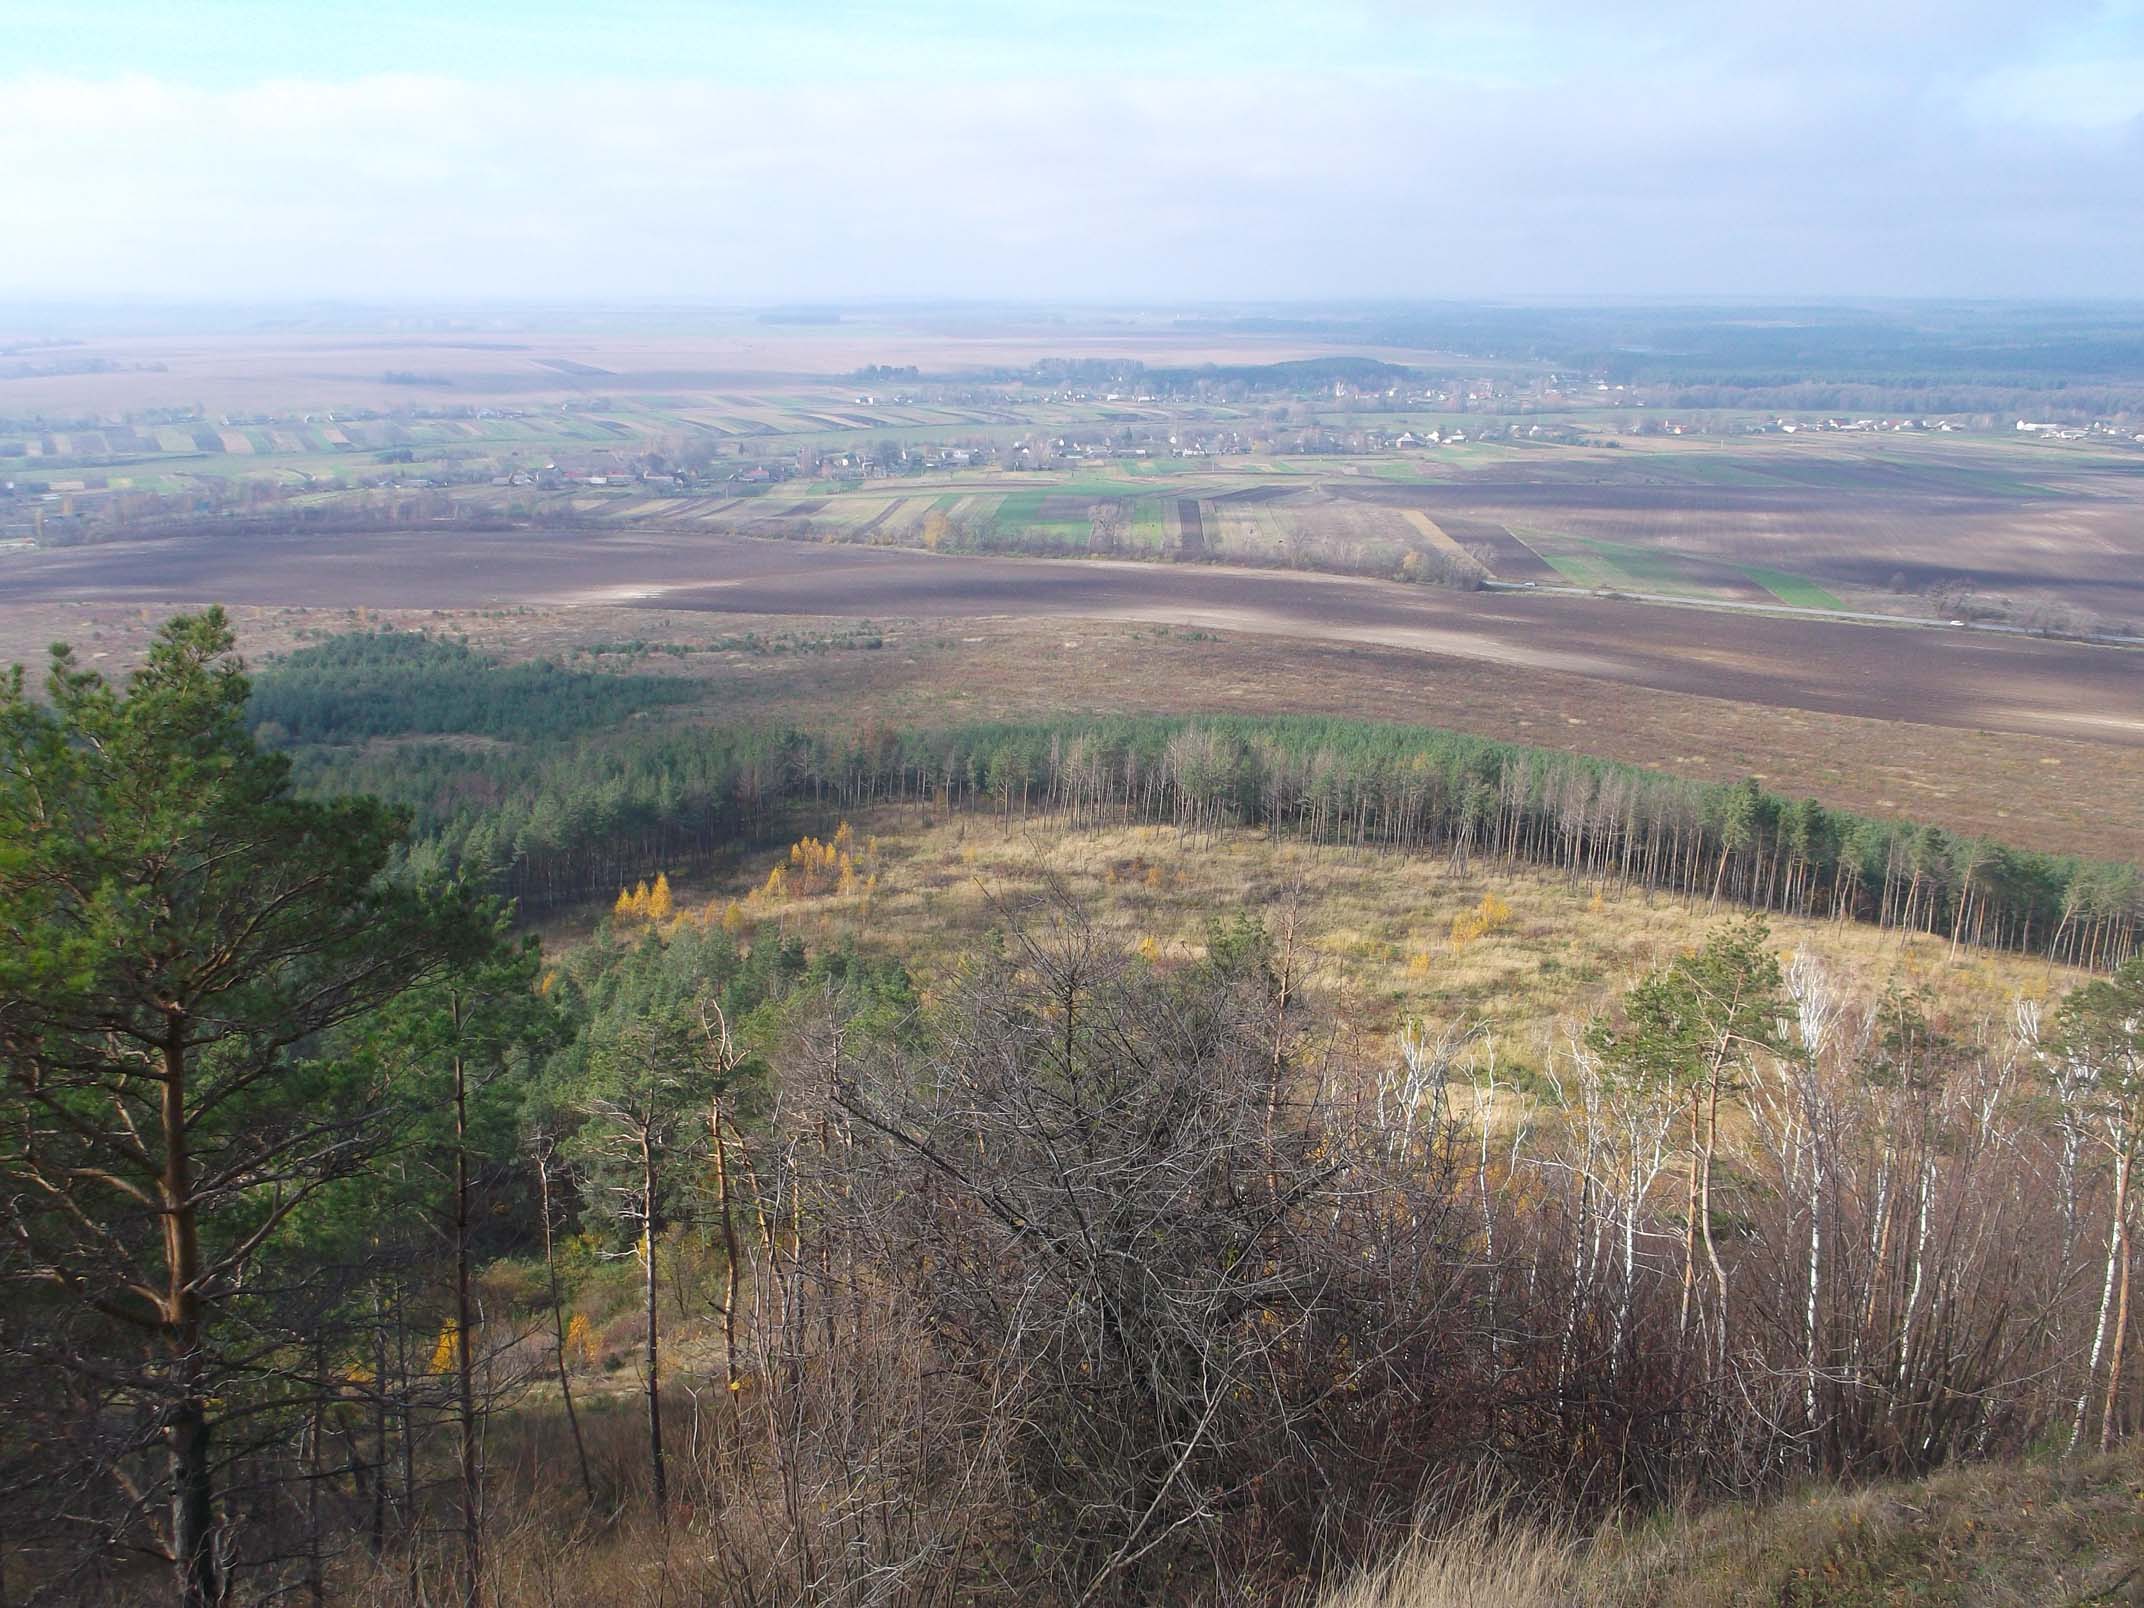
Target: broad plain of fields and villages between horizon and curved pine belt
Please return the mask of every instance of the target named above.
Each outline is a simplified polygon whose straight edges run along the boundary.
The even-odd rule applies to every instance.
[[[105,337],[0,384],[0,512],[45,534],[0,542],[0,662],[126,665],[225,602],[255,658],[399,624],[693,678],[669,720],[1329,712],[2144,855],[2144,652],[2078,639],[2144,620],[2125,437],[1471,358],[1259,390],[1319,352],[1132,315]]]

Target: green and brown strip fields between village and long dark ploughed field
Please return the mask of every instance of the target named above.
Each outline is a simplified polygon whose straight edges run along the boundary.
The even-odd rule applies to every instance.
[[[1361,465],[1151,472],[958,472],[808,482],[759,495],[538,495],[474,487],[465,510],[530,523],[699,525],[746,536],[976,553],[1177,557],[1426,579],[1466,560],[1488,581],[1644,592],[1696,602],[1930,617],[1962,590],[2033,624],[2065,609],[2105,630],[2144,620],[2144,482],[2086,472],[2063,485],[1882,493],[1822,485],[1666,485],[1651,463],[1447,470],[1413,480]],[[1565,467],[1565,465],[1559,465]],[[1417,560],[1411,564],[1411,560]]]

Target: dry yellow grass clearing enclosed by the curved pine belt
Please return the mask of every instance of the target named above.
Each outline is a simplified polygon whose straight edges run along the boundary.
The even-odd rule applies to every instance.
[[[1128,954],[1158,965],[1198,958],[1216,915],[1250,911],[1276,926],[1293,907],[1312,982],[1353,1031],[1385,1036],[1409,1016],[1471,1021],[1497,1033],[1507,1066],[1537,1066],[1563,1023],[1739,913],[1499,860],[1454,870],[1441,855],[1346,855],[1263,832],[1186,838],[1160,825],[1074,832],[894,813],[858,817],[853,830],[877,840],[868,896],[753,900],[742,905],[748,930],[808,943],[853,937],[900,954],[930,986],[984,930],[1053,888]],[[678,883],[680,909],[723,920],[774,862],[768,853],[729,879]],[[1938,939],[1857,924],[1775,918],[1773,941],[1827,958],[1852,988],[1925,986],[1968,1018],[2007,1014],[2013,997],[2050,997],[2075,980],[2030,956],[1953,958]]]

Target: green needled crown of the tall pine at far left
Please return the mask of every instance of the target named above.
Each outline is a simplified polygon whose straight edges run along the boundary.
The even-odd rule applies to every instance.
[[[111,1168],[84,1188],[144,1244],[167,1186],[137,1136],[159,1132],[174,1061],[193,1162],[242,1175],[238,1158],[364,1115],[362,1087],[307,1063],[319,1033],[489,941],[467,896],[384,877],[401,810],[292,793],[247,735],[229,650],[221,613],[182,617],[124,695],[54,650],[47,703],[19,675],[0,703],[0,1059],[49,1145]]]

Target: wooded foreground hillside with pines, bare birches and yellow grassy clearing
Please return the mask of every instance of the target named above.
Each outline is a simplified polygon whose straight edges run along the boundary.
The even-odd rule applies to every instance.
[[[2133,1593],[2133,873],[1284,727],[377,804],[229,647],[0,703],[0,1599]]]

